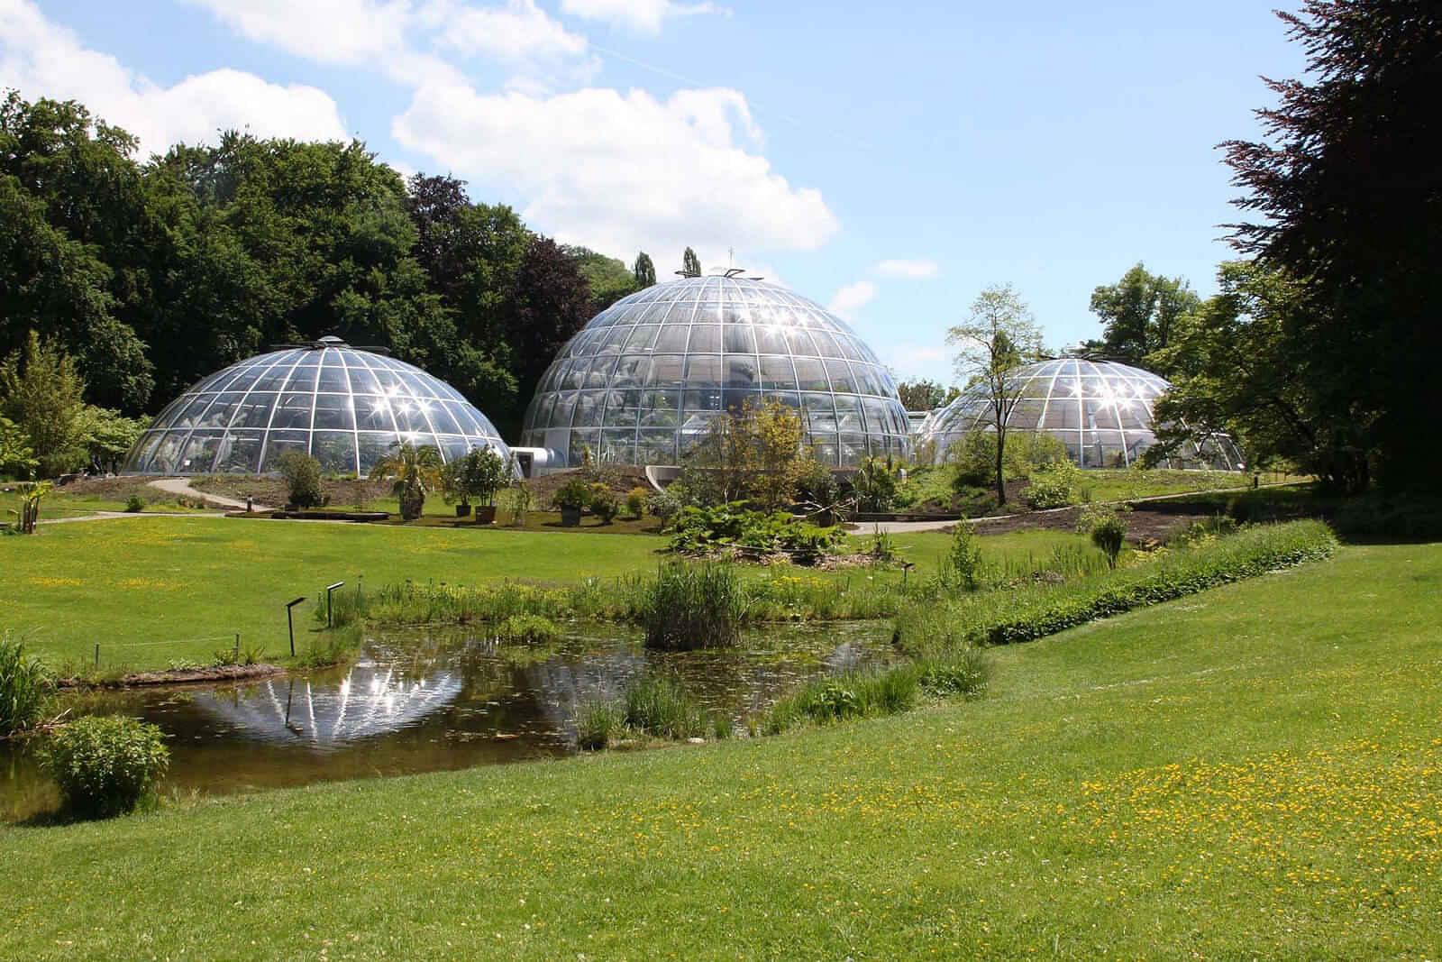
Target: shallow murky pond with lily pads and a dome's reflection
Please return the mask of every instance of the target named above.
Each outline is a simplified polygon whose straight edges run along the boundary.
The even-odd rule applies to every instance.
[[[388,632],[350,668],[258,684],[68,695],[72,714],[127,714],[170,746],[162,793],[229,795],[572,754],[577,697],[614,695],[645,671],[675,672],[709,711],[747,714],[822,674],[888,662],[888,625],[748,633],[724,652],[652,652],[637,632],[585,626],[559,645],[496,645],[460,629]],[[20,743],[0,743],[0,818],[56,808]]]

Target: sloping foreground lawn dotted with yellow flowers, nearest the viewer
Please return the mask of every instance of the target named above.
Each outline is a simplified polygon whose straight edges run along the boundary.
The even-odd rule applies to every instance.
[[[1442,545],[780,738],[0,829],[4,958],[1436,958]]]

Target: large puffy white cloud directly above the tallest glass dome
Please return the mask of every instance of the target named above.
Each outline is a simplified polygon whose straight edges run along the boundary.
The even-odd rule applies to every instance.
[[[529,198],[526,221],[601,251],[810,250],[838,228],[819,190],[792,187],[756,150],[760,130],[733,89],[658,101],[639,89],[428,87],[392,134],[441,167]]]

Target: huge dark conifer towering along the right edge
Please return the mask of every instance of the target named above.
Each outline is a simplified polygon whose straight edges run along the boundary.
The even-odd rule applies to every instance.
[[[1279,16],[1306,76],[1268,81],[1265,140],[1224,144],[1255,215],[1233,242],[1302,286],[1306,309],[1276,336],[1306,352],[1314,404],[1370,425],[1364,457],[1386,482],[1426,485],[1442,473],[1442,7],[1306,0]]]

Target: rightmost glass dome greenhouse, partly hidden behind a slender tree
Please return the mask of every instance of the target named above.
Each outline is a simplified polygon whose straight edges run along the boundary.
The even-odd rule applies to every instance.
[[[1115,361],[1057,358],[1017,372],[1019,400],[1008,430],[1040,431],[1067,446],[1082,467],[1128,467],[1156,443],[1152,404],[1171,385],[1149,371]],[[991,389],[975,385],[936,411],[917,431],[917,443],[936,443],[936,457],[972,431],[992,428]],[[1191,444],[1165,467],[1242,470],[1242,453],[1224,434]]]

